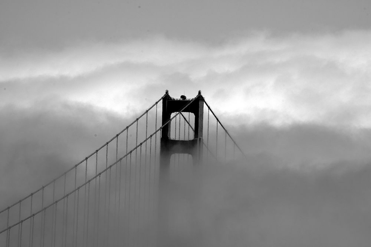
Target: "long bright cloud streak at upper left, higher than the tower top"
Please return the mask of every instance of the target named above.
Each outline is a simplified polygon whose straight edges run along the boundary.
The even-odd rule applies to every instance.
[[[199,58],[204,46],[160,37],[121,43],[81,42],[60,51],[38,50],[1,59],[0,81],[35,77],[74,78],[121,63],[167,66]]]

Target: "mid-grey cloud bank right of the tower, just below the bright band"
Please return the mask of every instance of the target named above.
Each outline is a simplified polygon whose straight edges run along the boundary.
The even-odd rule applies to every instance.
[[[294,169],[319,169],[330,164],[365,164],[371,160],[369,129],[334,128],[313,124],[274,127],[239,126],[232,136],[249,155],[249,163],[272,163]]]

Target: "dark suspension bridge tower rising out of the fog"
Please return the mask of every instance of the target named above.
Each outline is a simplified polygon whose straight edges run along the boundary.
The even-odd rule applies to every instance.
[[[190,99],[193,100],[193,99]],[[171,119],[171,114],[179,112],[190,100],[175,99],[170,97],[169,91],[166,90],[165,97],[162,99],[162,125]],[[204,98],[201,90],[192,103],[189,104],[182,112],[194,114],[194,138],[191,140],[176,140],[170,138],[169,122],[161,132],[160,143],[160,173],[159,173],[159,225],[158,225],[158,246],[166,247],[168,244],[168,204],[169,187],[170,187],[170,158],[173,154],[189,154],[192,156],[193,165],[200,165],[202,162],[203,151],[203,107]]]

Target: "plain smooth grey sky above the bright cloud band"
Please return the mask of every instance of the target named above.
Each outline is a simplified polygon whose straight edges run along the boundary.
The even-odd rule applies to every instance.
[[[370,28],[368,0],[1,1],[1,44],[63,48],[77,40],[150,35],[218,43],[251,30],[336,32]]]

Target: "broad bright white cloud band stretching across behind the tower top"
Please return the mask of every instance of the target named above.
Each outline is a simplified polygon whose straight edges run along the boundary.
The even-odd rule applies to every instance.
[[[153,37],[15,54],[0,59],[0,83],[14,87],[1,92],[3,104],[56,94],[125,114],[165,89],[188,97],[202,89],[218,113],[239,114],[245,123],[368,127],[370,55],[371,31],[262,32],[219,46]]]

